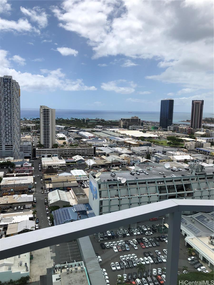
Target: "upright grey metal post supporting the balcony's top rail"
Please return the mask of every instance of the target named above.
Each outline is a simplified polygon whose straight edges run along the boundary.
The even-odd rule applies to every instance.
[[[178,259],[180,248],[181,211],[169,214],[167,242],[166,283],[177,284]]]

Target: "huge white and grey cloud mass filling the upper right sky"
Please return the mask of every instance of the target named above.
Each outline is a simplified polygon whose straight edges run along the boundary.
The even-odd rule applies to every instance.
[[[212,88],[213,2],[195,2],[64,1],[52,11],[60,27],[88,39],[94,58],[153,58],[166,70],[147,79]]]

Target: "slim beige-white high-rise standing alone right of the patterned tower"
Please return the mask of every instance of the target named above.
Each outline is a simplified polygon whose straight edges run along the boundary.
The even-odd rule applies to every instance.
[[[44,148],[52,148],[56,142],[55,109],[40,106],[40,142]]]

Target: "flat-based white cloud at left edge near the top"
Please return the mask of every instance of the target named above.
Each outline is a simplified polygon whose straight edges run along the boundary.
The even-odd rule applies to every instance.
[[[40,31],[28,22],[27,19],[19,19],[16,21],[9,21],[6,19],[0,19],[1,21],[1,30],[2,31],[13,31],[13,32],[36,32],[40,33]]]

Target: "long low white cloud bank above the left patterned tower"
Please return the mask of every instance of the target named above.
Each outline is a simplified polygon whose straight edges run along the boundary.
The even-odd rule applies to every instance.
[[[7,59],[8,52],[0,50],[1,70],[0,76],[9,74],[13,76],[21,89],[27,91],[41,91],[41,90],[64,90],[64,91],[87,91],[97,90],[94,86],[86,86],[82,79],[69,79],[61,69],[56,70],[41,70],[41,74],[32,74],[29,72],[20,72],[11,68],[11,64]]]

